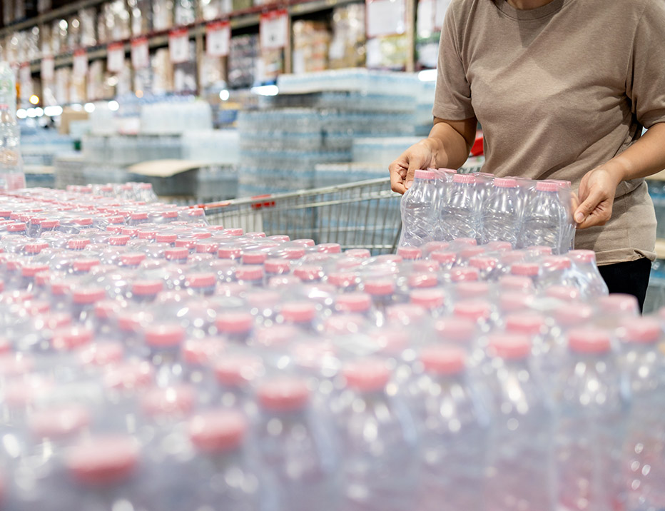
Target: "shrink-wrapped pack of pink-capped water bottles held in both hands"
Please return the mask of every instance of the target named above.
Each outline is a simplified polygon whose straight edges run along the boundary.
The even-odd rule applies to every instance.
[[[474,238],[514,248],[573,248],[574,193],[569,181],[459,174],[447,168],[415,171],[402,198],[400,246]]]

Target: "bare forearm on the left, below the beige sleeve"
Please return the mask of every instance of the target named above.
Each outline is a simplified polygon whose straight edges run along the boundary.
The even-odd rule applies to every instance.
[[[460,168],[469,156],[472,141],[475,137],[475,119],[454,121],[455,126],[447,121],[435,119],[430,136],[425,143],[432,151],[437,168]]]

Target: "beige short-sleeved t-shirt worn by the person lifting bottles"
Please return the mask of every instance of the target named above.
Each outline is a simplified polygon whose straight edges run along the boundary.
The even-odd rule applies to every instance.
[[[566,179],[665,122],[665,0],[452,0],[441,34],[434,115],[476,116],[484,170]],[[654,259],[656,218],[643,179],[623,181],[611,220],[577,232],[599,264]]]

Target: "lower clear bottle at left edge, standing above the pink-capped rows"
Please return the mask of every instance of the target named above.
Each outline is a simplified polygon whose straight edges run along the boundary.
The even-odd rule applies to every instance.
[[[6,104],[0,104],[0,190],[26,187],[20,138],[14,113]]]

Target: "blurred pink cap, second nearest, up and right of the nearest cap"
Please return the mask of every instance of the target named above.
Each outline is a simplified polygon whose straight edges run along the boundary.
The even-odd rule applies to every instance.
[[[189,421],[189,437],[199,450],[224,452],[242,445],[247,420],[235,410],[213,410]]]

